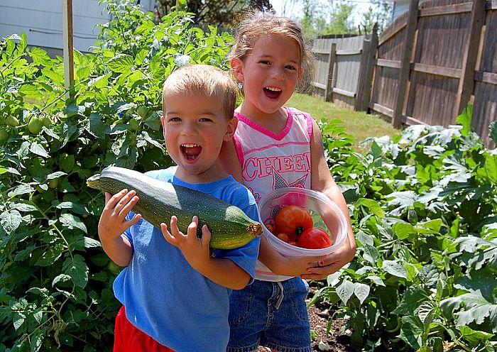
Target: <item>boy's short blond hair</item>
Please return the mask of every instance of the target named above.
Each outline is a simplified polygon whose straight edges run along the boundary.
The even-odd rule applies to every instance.
[[[212,104],[222,104],[226,119],[234,117],[238,88],[228,72],[211,65],[186,65],[175,70],[165,80],[163,88],[163,114],[165,97],[170,94],[200,94],[212,99]],[[195,104],[195,101],[192,101]]]

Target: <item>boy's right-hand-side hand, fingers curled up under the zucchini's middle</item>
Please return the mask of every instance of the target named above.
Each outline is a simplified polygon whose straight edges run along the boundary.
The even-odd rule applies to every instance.
[[[187,234],[185,235],[178,229],[178,218],[171,216],[170,231],[164,223],[160,224],[160,230],[165,238],[173,246],[180,248],[185,259],[192,268],[202,273],[204,265],[210,260],[209,242],[211,233],[207,225],[202,227],[202,238],[197,237],[198,217],[193,216],[192,222],[188,225]]]

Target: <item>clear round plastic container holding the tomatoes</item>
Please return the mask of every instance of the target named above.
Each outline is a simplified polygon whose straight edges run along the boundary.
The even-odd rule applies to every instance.
[[[288,205],[298,205],[310,211],[314,227],[330,234],[333,241],[332,246],[320,249],[301,248],[286,243],[273,235],[266,228],[266,224],[273,225],[275,215],[278,214],[281,208]],[[327,255],[337,251],[347,236],[348,226],[342,210],[323,193],[312,189],[297,187],[275,189],[262,197],[258,204],[258,212],[263,222],[263,236],[268,239],[273,248],[283,255]]]

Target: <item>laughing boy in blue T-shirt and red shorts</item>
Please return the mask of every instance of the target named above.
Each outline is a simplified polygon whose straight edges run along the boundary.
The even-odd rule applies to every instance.
[[[236,129],[236,84],[209,65],[188,65],[166,79],[161,118],[165,146],[178,166],[147,172],[236,205],[258,221],[255,199],[219,165],[223,141]],[[99,221],[104,251],[125,266],[114,281],[123,304],[114,352],[224,351],[229,339],[229,293],[253,280],[259,239],[229,251],[209,250],[210,232],[197,238],[197,216],[187,229],[165,219],[155,229],[140,214],[134,190],[111,197]],[[199,199],[202,202],[202,199]]]

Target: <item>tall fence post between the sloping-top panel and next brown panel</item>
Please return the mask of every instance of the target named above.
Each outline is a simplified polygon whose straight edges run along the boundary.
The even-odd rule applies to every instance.
[[[395,128],[402,126],[402,117],[404,109],[404,100],[407,94],[408,79],[410,72],[410,60],[413,55],[414,36],[417,27],[417,4],[418,0],[410,0],[409,18],[405,26],[405,47],[402,60],[400,61],[398,94],[393,107],[392,125]]]

